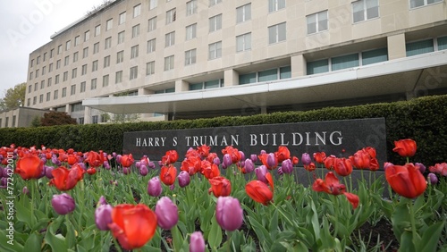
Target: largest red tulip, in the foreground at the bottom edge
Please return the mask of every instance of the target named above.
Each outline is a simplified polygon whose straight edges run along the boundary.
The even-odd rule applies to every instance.
[[[142,204],[118,205],[112,210],[112,223],[108,226],[122,248],[141,248],[156,233],[156,214]]]

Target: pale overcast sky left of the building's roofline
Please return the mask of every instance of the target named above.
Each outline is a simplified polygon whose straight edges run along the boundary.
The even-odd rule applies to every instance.
[[[30,53],[104,0],[1,0],[0,97],[27,80]]]

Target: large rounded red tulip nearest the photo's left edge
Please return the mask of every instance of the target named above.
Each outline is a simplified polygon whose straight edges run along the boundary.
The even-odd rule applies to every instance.
[[[6,160],[6,158],[4,158]],[[23,180],[38,179],[44,174],[44,162],[38,155],[25,154],[19,158],[14,173],[19,173]]]

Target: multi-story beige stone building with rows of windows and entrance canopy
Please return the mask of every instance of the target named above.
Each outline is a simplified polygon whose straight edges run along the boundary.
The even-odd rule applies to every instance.
[[[445,0],[116,0],[30,54],[26,106],[95,123],[404,100],[447,93],[446,49]]]

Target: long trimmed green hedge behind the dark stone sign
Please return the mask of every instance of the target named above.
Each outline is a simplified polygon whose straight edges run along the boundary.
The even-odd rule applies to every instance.
[[[9,146],[11,143],[23,147],[45,145],[52,148],[74,148],[83,152],[102,149],[108,153],[113,151],[120,153],[122,151],[122,133],[126,131],[178,130],[384,117],[390,162],[395,164],[405,162],[403,158],[392,152],[394,140],[414,139],[417,141],[417,154],[411,158],[411,161],[433,165],[447,161],[446,108],[447,96],[434,96],[394,103],[327,107],[307,112],[223,116],[171,122],[5,128],[0,129],[0,145]]]

